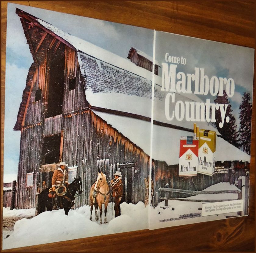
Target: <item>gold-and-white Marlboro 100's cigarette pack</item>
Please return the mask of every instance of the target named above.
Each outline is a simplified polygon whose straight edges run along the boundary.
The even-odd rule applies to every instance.
[[[199,130],[198,173],[212,176],[215,169],[216,132]]]

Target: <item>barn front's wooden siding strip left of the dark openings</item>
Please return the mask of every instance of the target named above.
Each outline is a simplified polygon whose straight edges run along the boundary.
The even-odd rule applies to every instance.
[[[45,94],[48,75],[48,51],[44,51],[44,56],[37,64],[34,74],[31,77],[31,87],[28,94],[27,105],[21,126],[20,136],[20,162],[18,166],[18,192],[17,207],[35,207],[36,180],[41,163],[42,136],[44,131],[45,117]],[[41,89],[41,99],[35,101],[36,91]],[[27,187],[27,173],[33,174],[33,186]]]

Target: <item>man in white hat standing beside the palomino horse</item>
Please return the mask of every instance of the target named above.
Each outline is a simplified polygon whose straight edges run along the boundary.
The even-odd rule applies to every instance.
[[[111,180],[111,188],[112,188],[112,200],[115,203],[115,217],[121,215],[120,209],[120,201],[123,197],[123,182],[122,175],[120,171],[117,171],[113,174],[114,180]]]

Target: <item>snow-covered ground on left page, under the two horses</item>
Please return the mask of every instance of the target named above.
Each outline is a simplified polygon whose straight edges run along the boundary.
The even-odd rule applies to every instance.
[[[148,228],[148,206],[145,208],[143,202],[136,205],[123,202],[120,205],[121,216],[115,217],[113,204],[113,219],[111,219],[112,203],[108,204],[107,224],[95,221],[93,209],[92,221],[90,221],[90,207],[83,206],[70,210],[65,215],[64,210],[46,211],[31,219],[23,218],[14,225],[14,231],[6,239],[3,239],[3,249],[25,247],[36,244],[51,243],[56,241],[72,240],[103,234],[113,234]],[[12,210],[13,211],[13,210]],[[12,211],[5,210],[5,214]],[[34,212],[34,209],[20,212]],[[98,210],[99,215],[99,210]],[[102,222],[104,222],[104,211]],[[33,235],[33,236],[32,236]]]

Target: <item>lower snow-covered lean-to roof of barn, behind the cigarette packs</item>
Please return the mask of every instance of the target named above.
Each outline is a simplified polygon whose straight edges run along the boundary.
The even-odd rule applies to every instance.
[[[150,122],[92,111],[138,145],[145,153],[150,153]],[[165,161],[168,165],[178,164],[181,136],[191,136],[191,132],[153,125],[152,159]],[[229,152],[223,152],[223,150],[229,150]],[[250,156],[226,142],[223,138],[216,136],[215,161],[233,160],[250,162]]]

